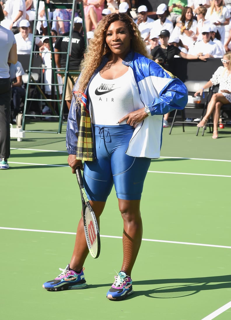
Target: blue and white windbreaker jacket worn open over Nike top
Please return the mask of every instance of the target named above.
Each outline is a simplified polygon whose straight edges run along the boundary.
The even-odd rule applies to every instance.
[[[96,69],[89,83],[107,61],[107,57],[104,56],[101,65]],[[162,144],[163,115],[174,109],[181,110],[185,108],[188,102],[187,88],[181,80],[168,73],[156,62],[137,52],[129,52],[123,64],[130,67],[129,72],[131,73],[131,82],[133,83],[135,110],[148,106],[151,112],[151,116],[146,117],[142,123],[136,126],[126,154],[134,157],[158,158]],[[89,84],[83,94],[83,100],[85,97],[85,101],[82,105],[87,114],[91,110],[88,87]],[[78,81],[74,85],[73,92],[77,90]],[[94,160],[94,150],[92,159],[90,159],[90,157],[82,156],[82,154],[86,155],[82,149],[84,148],[83,145],[77,148],[77,142],[78,145],[80,143],[78,135],[82,132],[82,129],[80,130],[79,128],[80,118],[81,108],[79,108],[73,98],[67,121],[67,151],[69,154],[76,154],[77,151],[77,159]],[[80,149],[81,152],[79,153]]]

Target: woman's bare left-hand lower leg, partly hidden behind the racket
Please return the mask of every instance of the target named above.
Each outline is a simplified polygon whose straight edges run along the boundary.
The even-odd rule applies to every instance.
[[[90,204],[92,206],[93,211],[96,214],[96,219],[99,225],[99,217],[104,210],[105,202],[90,201]],[[70,268],[75,271],[80,271],[83,267],[84,261],[86,260],[88,253],[89,250],[84,233],[83,217],[81,217],[76,232],[75,245],[70,262]]]

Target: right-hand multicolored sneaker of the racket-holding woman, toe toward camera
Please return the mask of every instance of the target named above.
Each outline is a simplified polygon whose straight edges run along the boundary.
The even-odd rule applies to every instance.
[[[107,292],[107,299],[123,300],[132,293],[132,279],[125,272],[120,271],[118,276],[115,276],[115,282],[112,284],[111,289]]]

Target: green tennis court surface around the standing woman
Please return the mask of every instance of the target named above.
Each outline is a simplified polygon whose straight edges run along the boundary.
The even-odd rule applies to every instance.
[[[53,122],[26,130],[52,131]],[[26,132],[11,141],[0,170],[1,319],[231,319],[231,128],[212,140],[196,126],[163,130],[141,202],[143,241],[132,273],[134,294],[109,301],[122,262],[122,218],[115,190],[101,217],[101,253],[84,265],[88,288],[42,288],[69,263],[81,201],[61,134]],[[119,161],[119,159],[118,159]]]

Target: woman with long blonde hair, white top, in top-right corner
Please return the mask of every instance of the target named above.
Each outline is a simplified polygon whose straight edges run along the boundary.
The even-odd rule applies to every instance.
[[[205,19],[209,20],[211,23],[213,23],[215,26],[217,26],[217,29],[219,31],[219,34],[221,36],[221,42],[224,44],[225,41],[225,27],[229,24],[230,19],[230,13],[228,9],[223,6],[223,0],[213,0],[211,7],[208,8]]]

